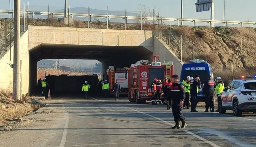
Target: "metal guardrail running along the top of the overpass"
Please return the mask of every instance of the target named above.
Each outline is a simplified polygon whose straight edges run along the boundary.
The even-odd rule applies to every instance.
[[[89,10],[89,8],[88,8]],[[26,11],[26,10],[25,10]],[[0,13],[2,14],[9,14],[10,11],[9,10],[0,10]],[[24,13],[24,11],[21,11],[21,14]],[[13,11],[11,11],[11,14],[13,15]],[[41,15],[41,16],[63,16],[64,17],[64,13],[63,12],[43,12],[43,11],[26,11],[26,14],[31,15],[32,18],[34,18],[35,15]],[[127,16],[126,13],[125,15],[108,15],[108,12],[106,15],[100,15],[100,14],[90,14],[90,13],[69,13],[68,14],[69,17],[73,18],[73,17],[86,17],[86,18],[90,18],[88,20],[91,20],[91,18],[108,18],[107,21],[110,18],[117,18],[117,19],[126,19],[126,24],[127,24],[127,20],[128,19],[135,19],[135,20],[141,20],[141,24],[143,21],[145,20],[158,20],[159,22],[163,21],[175,21],[177,22],[177,25],[179,25],[179,22],[193,22],[194,26],[196,26],[196,22],[201,22],[201,23],[209,23],[210,26],[211,24],[224,24],[225,26],[228,26],[228,24],[238,24],[241,25],[241,27],[243,27],[243,25],[256,25],[256,22],[253,21],[226,21],[226,20],[207,20],[207,19],[181,19],[181,18],[167,18],[167,17],[159,17],[159,13],[158,16],[153,16],[153,17],[143,17],[141,16]],[[156,18],[157,17],[157,18]],[[158,22],[158,24],[159,24]]]

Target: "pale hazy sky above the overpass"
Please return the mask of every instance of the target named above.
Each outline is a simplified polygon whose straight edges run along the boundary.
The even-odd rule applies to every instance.
[[[42,6],[48,11],[48,4],[52,9],[63,9],[64,0],[21,0],[21,3],[29,1],[31,7]],[[184,18],[210,19],[210,11],[195,12],[196,0],[184,0]],[[71,8],[90,7],[93,9],[139,11],[139,5],[156,8],[162,17],[180,18],[181,0],[69,0]],[[22,4],[23,5],[23,4]],[[13,0],[11,0],[13,6]],[[223,20],[224,0],[215,0],[214,19]],[[256,21],[256,0],[226,0],[226,20]],[[12,7],[13,8],[13,7]],[[9,0],[1,0],[0,10],[9,9]]]

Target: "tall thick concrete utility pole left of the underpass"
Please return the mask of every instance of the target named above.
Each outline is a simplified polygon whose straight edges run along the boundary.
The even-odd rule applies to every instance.
[[[13,98],[21,98],[20,77],[20,0],[14,0]]]

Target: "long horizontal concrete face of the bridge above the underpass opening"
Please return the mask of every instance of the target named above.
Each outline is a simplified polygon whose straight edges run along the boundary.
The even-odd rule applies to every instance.
[[[29,49],[40,44],[144,46],[153,52],[153,33],[144,30],[112,30],[29,26]]]

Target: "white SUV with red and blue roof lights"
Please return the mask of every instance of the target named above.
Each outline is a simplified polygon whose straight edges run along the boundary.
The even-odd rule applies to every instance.
[[[233,80],[222,93],[218,95],[219,113],[233,110],[235,116],[241,116],[242,112],[256,113],[256,78],[254,76],[239,76],[243,79]]]

